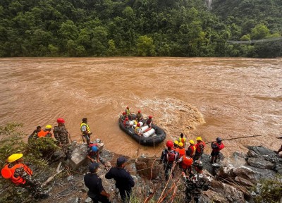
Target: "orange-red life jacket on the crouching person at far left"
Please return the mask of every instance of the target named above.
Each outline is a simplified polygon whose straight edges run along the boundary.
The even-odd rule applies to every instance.
[[[23,169],[25,170],[25,173],[27,173],[30,176],[32,175],[32,170],[28,166],[25,166],[25,164],[19,163],[11,168],[9,168],[8,166],[9,164],[6,164],[6,166],[4,166],[4,168],[2,169],[1,171],[2,176],[6,179],[10,178],[12,182],[15,183],[16,185],[25,184],[25,179],[23,179],[20,176],[18,177],[14,176],[17,168],[23,167]]]

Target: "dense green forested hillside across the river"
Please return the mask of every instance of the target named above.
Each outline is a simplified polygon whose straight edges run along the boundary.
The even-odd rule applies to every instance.
[[[282,56],[281,0],[1,0],[0,56]]]

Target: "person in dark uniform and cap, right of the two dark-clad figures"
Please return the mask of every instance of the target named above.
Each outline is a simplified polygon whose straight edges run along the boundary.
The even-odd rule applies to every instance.
[[[130,173],[124,168],[126,161],[124,156],[118,157],[116,167],[111,168],[105,175],[106,179],[114,178],[116,180],[116,188],[118,188],[123,202],[129,202],[132,187],[135,185]]]

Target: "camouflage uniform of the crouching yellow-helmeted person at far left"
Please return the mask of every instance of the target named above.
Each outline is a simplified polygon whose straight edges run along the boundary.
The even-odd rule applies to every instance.
[[[9,164],[9,167],[10,166],[13,167],[14,165]],[[16,168],[14,176],[20,176],[21,178],[25,179],[25,184],[19,184],[18,186],[25,188],[32,194],[32,196],[40,197],[40,195],[44,195],[41,184],[35,180],[35,178],[32,178],[32,176],[27,174],[23,167]]]

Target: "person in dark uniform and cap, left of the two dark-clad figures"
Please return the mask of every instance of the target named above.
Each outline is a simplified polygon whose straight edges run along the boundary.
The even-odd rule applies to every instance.
[[[84,176],[84,183],[89,189],[87,195],[94,203],[111,203],[109,201],[110,194],[104,190],[102,179],[97,175],[98,169],[99,164],[94,162],[89,166],[90,173]]]

